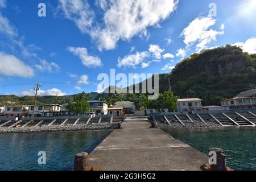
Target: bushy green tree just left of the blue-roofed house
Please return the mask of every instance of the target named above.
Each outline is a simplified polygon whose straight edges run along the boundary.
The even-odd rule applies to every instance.
[[[69,102],[66,106],[69,111],[73,112],[75,115],[89,111],[90,104],[88,101],[92,100],[92,96],[90,94],[82,92],[81,94],[73,96],[73,98],[74,102]]]

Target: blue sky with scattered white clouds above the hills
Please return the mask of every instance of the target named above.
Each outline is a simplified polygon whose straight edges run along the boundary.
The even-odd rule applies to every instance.
[[[42,96],[95,92],[110,69],[168,73],[226,44],[256,53],[255,12],[255,0],[0,0],[0,94],[33,95],[36,81]]]

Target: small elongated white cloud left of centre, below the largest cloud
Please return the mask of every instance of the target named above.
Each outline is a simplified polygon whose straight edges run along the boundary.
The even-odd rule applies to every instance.
[[[102,66],[101,59],[97,56],[89,55],[85,47],[68,47],[68,51],[78,56],[85,67],[96,68]]]

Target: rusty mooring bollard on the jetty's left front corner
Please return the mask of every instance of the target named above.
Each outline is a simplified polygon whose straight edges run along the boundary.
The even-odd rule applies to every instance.
[[[80,152],[75,156],[74,171],[88,171],[89,155],[86,152]]]

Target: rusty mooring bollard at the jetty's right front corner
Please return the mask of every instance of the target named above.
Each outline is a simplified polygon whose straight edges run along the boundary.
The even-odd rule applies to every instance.
[[[217,154],[217,163],[210,165],[210,170],[212,171],[227,171],[226,167],[226,155],[224,154],[224,150],[221,148],[209,148],[209,152],[214,151]]]

